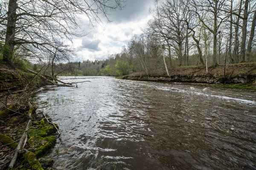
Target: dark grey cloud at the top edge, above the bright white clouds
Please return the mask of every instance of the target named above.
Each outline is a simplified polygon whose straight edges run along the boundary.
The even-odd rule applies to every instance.
[[[139,19],[148,14],[148,9],[153,4],[154,0],[127,0],[125,8],[121,11],[113,11],[110,19],[115,23]]]

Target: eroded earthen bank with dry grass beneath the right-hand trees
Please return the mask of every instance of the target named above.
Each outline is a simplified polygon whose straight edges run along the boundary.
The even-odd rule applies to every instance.
[[[224,66],[209,66],[208,73],[204,65],[183,66],[166,71],[145,73],[133,73],[122,79],[144,80],[144,81],[166,81],[166,82],[190,82],[207,84],[242,84],[256,87],[256,63],[239,63],[227,65],[224,79]],[[228,87],[228,86],[227,86]],[[235,87],[235,86],[233,86]],[[236,86],[239,88],[239,86]]]

